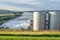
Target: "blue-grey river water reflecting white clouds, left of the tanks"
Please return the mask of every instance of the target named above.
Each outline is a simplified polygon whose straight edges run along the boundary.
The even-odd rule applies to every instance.
[[[30,26],[30,19],[33,19],[33,13],[24,12],[22,16],[3,23],[1,27],[9,27],[9,29],[27,29]]]

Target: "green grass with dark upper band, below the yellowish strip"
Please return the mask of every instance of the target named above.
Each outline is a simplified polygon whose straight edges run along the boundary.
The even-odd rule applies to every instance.
[[[60,34],[0,34],[0,40],[60,40]]]

